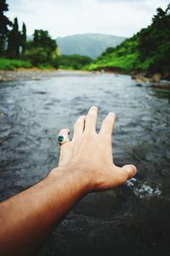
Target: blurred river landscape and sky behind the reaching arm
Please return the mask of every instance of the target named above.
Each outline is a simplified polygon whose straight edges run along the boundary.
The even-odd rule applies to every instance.
[[[60,129],[116,112],[138,174],[85,196],[37,255],[170,255],[170,3],[0,0],[0,201],[57,166]],[[97,150],[97,149],[96,149]]]

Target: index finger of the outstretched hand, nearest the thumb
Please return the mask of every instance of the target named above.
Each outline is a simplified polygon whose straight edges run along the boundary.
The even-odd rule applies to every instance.
[[[108,115],[105,117],[105,119],[102,122],[99,134],[104,135],[104,136],[105,135],[111,136],[114,125],[115,125],[115,119],[116,119],[115,113],[113,113],[113,112],[108,113]]]

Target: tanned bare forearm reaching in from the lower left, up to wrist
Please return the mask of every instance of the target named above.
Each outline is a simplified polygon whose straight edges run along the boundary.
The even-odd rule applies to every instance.
[[[42,182],[1,203],[1,255],[36,252],[54,225],[88,193],[88,176],[79,170],[59,167],[53,172],[56,175],[49,175]]]

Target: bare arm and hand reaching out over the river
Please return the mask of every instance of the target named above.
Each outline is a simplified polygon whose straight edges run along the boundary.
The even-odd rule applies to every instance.
[[[113,189],[136,174],[112,159],[115,113],[96,133],[98,108],[77,119],[72,140],[60,148],[59,166],[41,182],[0,204],[0,254],[32,255],[77,201],[92,191]],[[69,135],[64,129],[59,135]]]

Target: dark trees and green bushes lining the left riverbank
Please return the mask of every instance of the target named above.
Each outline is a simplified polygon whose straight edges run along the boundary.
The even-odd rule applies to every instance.
[[[80,69],[92,60],[88,56],[59,55],[56,41],[48,31],[35,30],[31,40],[27,40],[26,24],[19,29],[18,19],[8,19],[6,0],[0,2],[0,57],[31,61],[32,66],[52,66]]]

